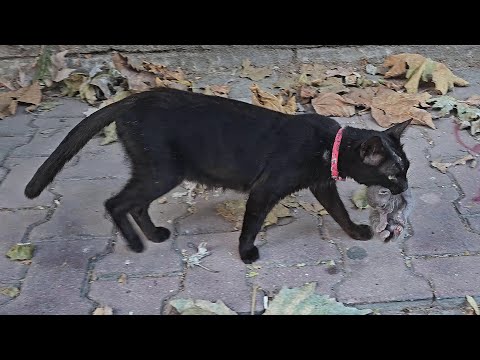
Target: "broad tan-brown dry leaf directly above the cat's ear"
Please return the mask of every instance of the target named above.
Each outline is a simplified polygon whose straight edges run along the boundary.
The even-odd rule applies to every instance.
[[[417,106],[427,107],[425,101],[430,98],[428,93],[401,94],[380,87],[372,99],[372,117],[382,127],[388,128],[394,124],[413,119],[413,124],[429,126],[435,129],[432,115]]]

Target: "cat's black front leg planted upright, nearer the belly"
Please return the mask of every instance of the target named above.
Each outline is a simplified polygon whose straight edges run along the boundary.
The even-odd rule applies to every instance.
[[[258,260],[258,248],[253,243],[268,213],[279,200],[280,197],[274,195],[271,189],[254,190],[250,193],[239,244],[240,258],[245,264]]]

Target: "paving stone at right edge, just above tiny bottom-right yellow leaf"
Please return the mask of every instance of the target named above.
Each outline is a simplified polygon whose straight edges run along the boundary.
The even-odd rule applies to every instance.
[[[413,259],[416,272],[431,279],[438,298],[480,295],[480,257]]]

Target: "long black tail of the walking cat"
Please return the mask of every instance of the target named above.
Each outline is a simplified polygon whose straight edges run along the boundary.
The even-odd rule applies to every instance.
[[[25,187],[25,196],[33,199],[50,184],[55,175],[75,156],[85,144],[105,126],[116,120],[116,115],[125,111],[134,99],[126,98],[97,110],[77,124],[58,145],[55,151],[40,166]]]

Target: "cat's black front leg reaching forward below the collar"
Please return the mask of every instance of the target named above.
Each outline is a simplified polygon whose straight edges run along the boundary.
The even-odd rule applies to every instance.
[[[338,195],[337,185],[333,180],[326,185],[314,184],[310,186],[310,191],[350,237],[356,240],[369,240],[372,238],[373,232],[370,226],[357,225],[350,220],[345,205],[342,199],[340,199],[340,195]]]

